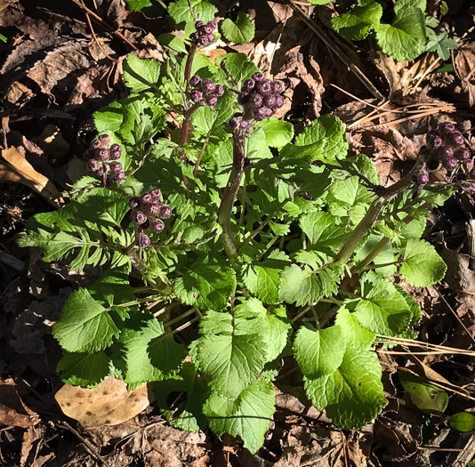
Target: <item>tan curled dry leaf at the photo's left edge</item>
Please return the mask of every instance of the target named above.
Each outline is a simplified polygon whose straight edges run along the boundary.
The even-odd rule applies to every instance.
[[[14,147],[4,149],[2,151],[2,157],[4,157],[5,162],[0,160],[1,181],[23,183],[50,201],[56,200],[60,203],[63,202],[60,192],[56,189],[52,181],[42,173],[36,172],[28,160],[20,154],[18,149]]]

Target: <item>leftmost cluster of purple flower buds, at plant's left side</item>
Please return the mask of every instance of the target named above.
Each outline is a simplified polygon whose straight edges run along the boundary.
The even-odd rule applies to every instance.
[[[100,134],[97,140],[91,143],[91,149],[85,152],[87,169],[98,179],[123,181],[125,179],[124,167],[120,162],[117,162],[122,155],[122,147],[114,143],[109,148],[109,144],[109,134]]]

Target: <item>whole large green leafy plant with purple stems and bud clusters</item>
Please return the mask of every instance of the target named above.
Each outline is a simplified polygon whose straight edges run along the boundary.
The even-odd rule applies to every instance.
[[[153,383],[173,426],[229,433],[254,453],[284,357],[335,425],[379,414],[375,341],[415,337],[421,317],[393,278],[422,287],[444,277],[421,239],[426,218],[454,188],[471,194],[475,173],[463,135],[445,124],[384,186],[369,157],[349,153],[337,117],[294,135],[273,117],[281,83],[244,54],[212,63],[197,53],[214,28],[198,21],[189,52],[164,63],[128,56],[130,95],[94,114],[91,175],[68,205],[36,214],[19,244],[71,270],[101,268],[52,328],[65,382]],[[447,182],[431,181],[434,170]],[[166,322],[164,310],[174,310]],[[184,323],[198,330],[177,334]]]

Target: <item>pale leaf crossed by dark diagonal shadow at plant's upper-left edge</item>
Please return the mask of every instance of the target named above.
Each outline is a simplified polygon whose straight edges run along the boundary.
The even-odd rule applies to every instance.
[[[140,93],[157,85],[160,76],[160,63],[154,59],[138,59],[129,53],[123,64],[122,79],[133,92]]]

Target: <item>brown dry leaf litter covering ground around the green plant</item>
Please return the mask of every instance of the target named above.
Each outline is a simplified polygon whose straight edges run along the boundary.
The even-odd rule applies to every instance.
[[[38,197],[26,196],[24,189],[13,183],[24,183],[42,191],[48,198],[57,197],[57,190],[44,191],[44,187],[51,187],[49,182],[56,187],[65,187],[71,158],[64,149],[58,157],[52,154],[46,143],[40,144],[48,138],[49,122],[44,117],[53,119],[57,129],[54,132],[59,131],[69,145],[69,156],[80,157],[84,152],[81,141],[83,138],[87,140],[88,133],[86,130],[85,135],[79,135],[77,129],[81,126],[87,128],[86,122],[93,110],[103,107],[122,93],[123,88],[118,81],[120,66],[125,54],[132,49],[131,44],[141,49],[138,52],[141,58],[156,57],[161,60],[157,40],[149,32],[155,32],[153,28],[158,28],[157,25],[159,28],[170,28],[166,20],[154,23],[142,12],[127,12],[124,4],[117,1],[104,0],[94,4],[102,19],[93,22],[96,37],[88,27],[85,12],[73,2],[42,7],[28,1],[2,4],[0,26],[12,31],[12,42],[3,55],[0,68],[0,88],[5,104],[0,117],[8,119],[12,130],[3,133],[2,149],[10,152],[3,152],[6,157],[0,158],[0,164],[6,167],[0,173],[3,216],[0,220],[12,227],[4,230],[6,235],[0,246],[27,263],[25,253],[19,252],[14,245],[13,235],[30,213],[45,211],[48,207]],[[300,8],[301,2],[295,4]],[[246,5],[242,7],[246,8]],[[308,16],[311,16],[313,9],[319,27],[325,28],[332,10],[329,7],[318,8],[304,6]],[[226,7],[220,12],[223,17],[231,14]],[[320,112],[333,110],[346,125],[354,125],[347,133],[350,148],[374,157],[384,180],[398,181],[401,174],[406,173],[410,161],[414,160],[416,147],[422,143],[420,135],[437,122],[458,120],[459,123],[465,121],[469,131],[474,127],[470,114],[459,116],[450,113],[454,110],[450,109],[453,102],[462,103],[469,112],[475,102],[473,39],[463,39],[453,52],[455,74],[451,74],[434,73],[438,65],[434,66],[431,54],[422,56],[412,66],[407,62],[396,63],[374,50],[366,60],[358,55],[359,44],[355,46],[332,36],[331,40],[342,47],[351,61],[390,101],[386,102],[375,100],[368,93],[366,86],[348,70],[348,63],[344,63],[318,36],[314,36],[301,17],[294,15],[293,8],[269,1],[260,2],[247,12],[255,21],[256,39],[254,43],[240,47],[264,69],[267,64],[270,74],[286,83],[286,106],[281,117],[309,121],[318,117]],[[463,28],[457,24],[456,18],[451,17],[451,20],[455,28]],[[299,31],[298,34],[296,31]],[[459,32],[463,36],[465,31],[461,29]],[[332,87],[332,84],[347,93]],[[374,111],[366,102],[381,109]],[[431,113],[424,113],[427,109],[431,109]],[[419,114],[414,114],[415,110]],[[18,145],[13,143],[14,132],[20,132],[24,138]],[[37,140],[42,133],[44,135]],[[31,150],[31,141],[37,142],[39,154],[45,154],[52,161],[52,173],[37,172],[35,168],[25,165],[28,161],[22,154]],[[15,143],[18,142],[17,138]],[[23,167],[20,174],[15,168],[17,166]],[[7,203],[11,206],[10,210],[5,210]],[[19,212],[13,214],[13,208],[19,209]],[[457,230],[456,226],[469,221],[474,213],[473,203],[463,196],[457,197],[453,205],[432,213],[433,222],[427,231],[427,238],[439,246],[449,270],[442,286],[415,289],[401,283],[423,307],[420,340],[473,349],[475,302],[472,275],[475,272],[468,250],[470,238],[464,229]],[[63,300],[64,294],[72,290],[69,288],[71,284],[76,286],[77,281],[83,279],[68,275],[60,263],[49,269],[38,269],[33,262],[29,278],[27,270],[19,274],[3,262],[0,262],[0,267],[6,269],[5,277],[9,278],[8,283],[1,283],[6,312],[2,332],[8,338],[1,344],[5,361],[0,363],[4,374],[12,374],[15,378],[0,384],[0,390],[5,387],[11,392],[10,399],[0,399],[0,412],[4,417],[2,423],[7,427],[20,428],[20,431],[4,431],[1,441],[4,458],[12,465],[73,465],[77,462],[99,465],[104,449],[112,453],[106,461],[110,465],[131,464],[139,459],[145,465],[183,465],[185,462],[208,465],[220,458],[219,452],[226,452],[227,455],[221,459],[224,464],[232,465],[242,465],[245,459],[246,465],[282,466],[457,465],[456,462],[463,465],[471,460],[470,451],[463,451],[472,446],[470,439],[455,439],[454,431],[444,428],[443,423],[433,423],[422,412],[417,412],[410,401],[401,398],[403,391],[396,372],[399,368],[410,366],[411,359],[391,354],[382,357],[386,359],[383,381],[389,404],[374,423],[353,433],[335,430],[325,413],[309,406],[309,402],[302,397],[302,388],[295,384],[294,376],[290,378],[290,386],[295,395],[278,402],[278,413],[268,434],[266,447],[254,456],[244,454],[231,443],[222,451],[222,444],[205,433],[176,431],[166,426],[150,407],[141,415],[134,414],[139,408],[149,406],[149,402],[145,403],[145,394],[141,396],[142,405],[137,405],[135,411],[129,412],[130,407],[124,403],[126,415],[118,416],[117,421],[120,423],[132,413],[132,419],[128,422],[84,431],[84,426],[92,428],[92,420],[81,418],[84,414],[78,410],[69,415],[76,415],[72,418],[83,424],[75,423],[76,428],[69,430],[67,424],[61,422],[67,419],[52,399],[61,386],[55,375],[60,351],[49,335],[49,324],[55,319],[54,312],[60,310],[58,297]],[[40,301],[36,301],[33,288],[27,292],[30,284],[43,287]],[[33,333],[22,331],[28,326],[34,329]],[[472,359],[443,354],[425,356],[423,361],[448,381],[473,393]],[[289,371],[295,372],[295,369]],[[64,391],[67,396],[63,404],[66,404],[68,399],[72,399]],[[129,394],[125,391],[123,397],[125,393]],[[16,395],[17,399],[12,395]],[[452,399],[455,402],[451,403],[459,410],[473,407],[470,401]],[[99,407],[102,404],[104,408],[104,401],[97,400],[95,403]],[[35,407],[35,411],[30,407]],[[109,415],[107,410],[104,416],[106,414]],[[107,420],[104,416],[99,417],[99,423]],[[93,423],[98,423],[98,420]],[[424,423],[425,430],[422,428]],[[48,438],[52,441],[46,445],[44,439]],[[460,451],[441,450],[444,447],[455,447]]]

